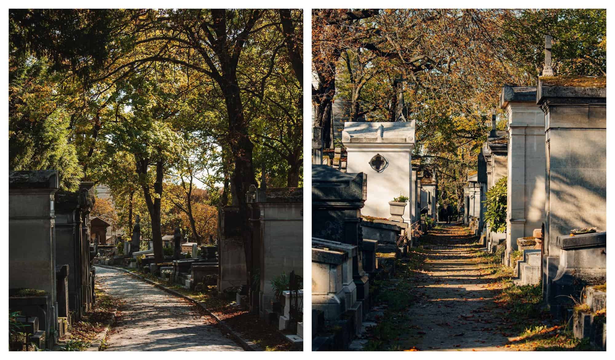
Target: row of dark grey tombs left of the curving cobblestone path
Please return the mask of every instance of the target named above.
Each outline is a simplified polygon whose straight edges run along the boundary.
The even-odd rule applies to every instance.
[[[89,213],[93,182],[58,190],[57,170],[9,173],[9,312],[25,337],[14,350],[53,348],[95,302]]]

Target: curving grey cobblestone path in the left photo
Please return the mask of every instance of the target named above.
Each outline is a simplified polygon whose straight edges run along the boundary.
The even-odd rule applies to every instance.
[[[98,284],[121,299],[121,316],[105,351],[242,351],[194,303],[137,280],[97,267]]]

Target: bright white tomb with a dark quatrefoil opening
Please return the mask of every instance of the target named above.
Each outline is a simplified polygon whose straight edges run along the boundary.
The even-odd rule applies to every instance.
[[[415,146],[415,121],[346,122],[342,142],[347,151],[347,173],[370,176],[363,214],[388,218],[389,202],[411,197],[411,152]],[[410,222],[411,209],[403,219]]]

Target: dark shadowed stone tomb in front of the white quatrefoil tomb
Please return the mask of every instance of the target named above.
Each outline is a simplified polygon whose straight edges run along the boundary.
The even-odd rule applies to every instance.
[[[361,249],[361,209],[367,197],[364,173],[342,173],[326,165],[312,165],[312,236]],[[388,205],[388,204],[387,204]],[[369,308],[369,276],[363,271],[362,251],[352,259],[357,300]]]

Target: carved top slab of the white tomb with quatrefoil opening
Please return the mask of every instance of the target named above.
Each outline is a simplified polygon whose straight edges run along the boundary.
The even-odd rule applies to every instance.
[[[344,123],[342,141],[344,144],[414,144],[415,123],[415,120],[408,122],[346,122]]]

